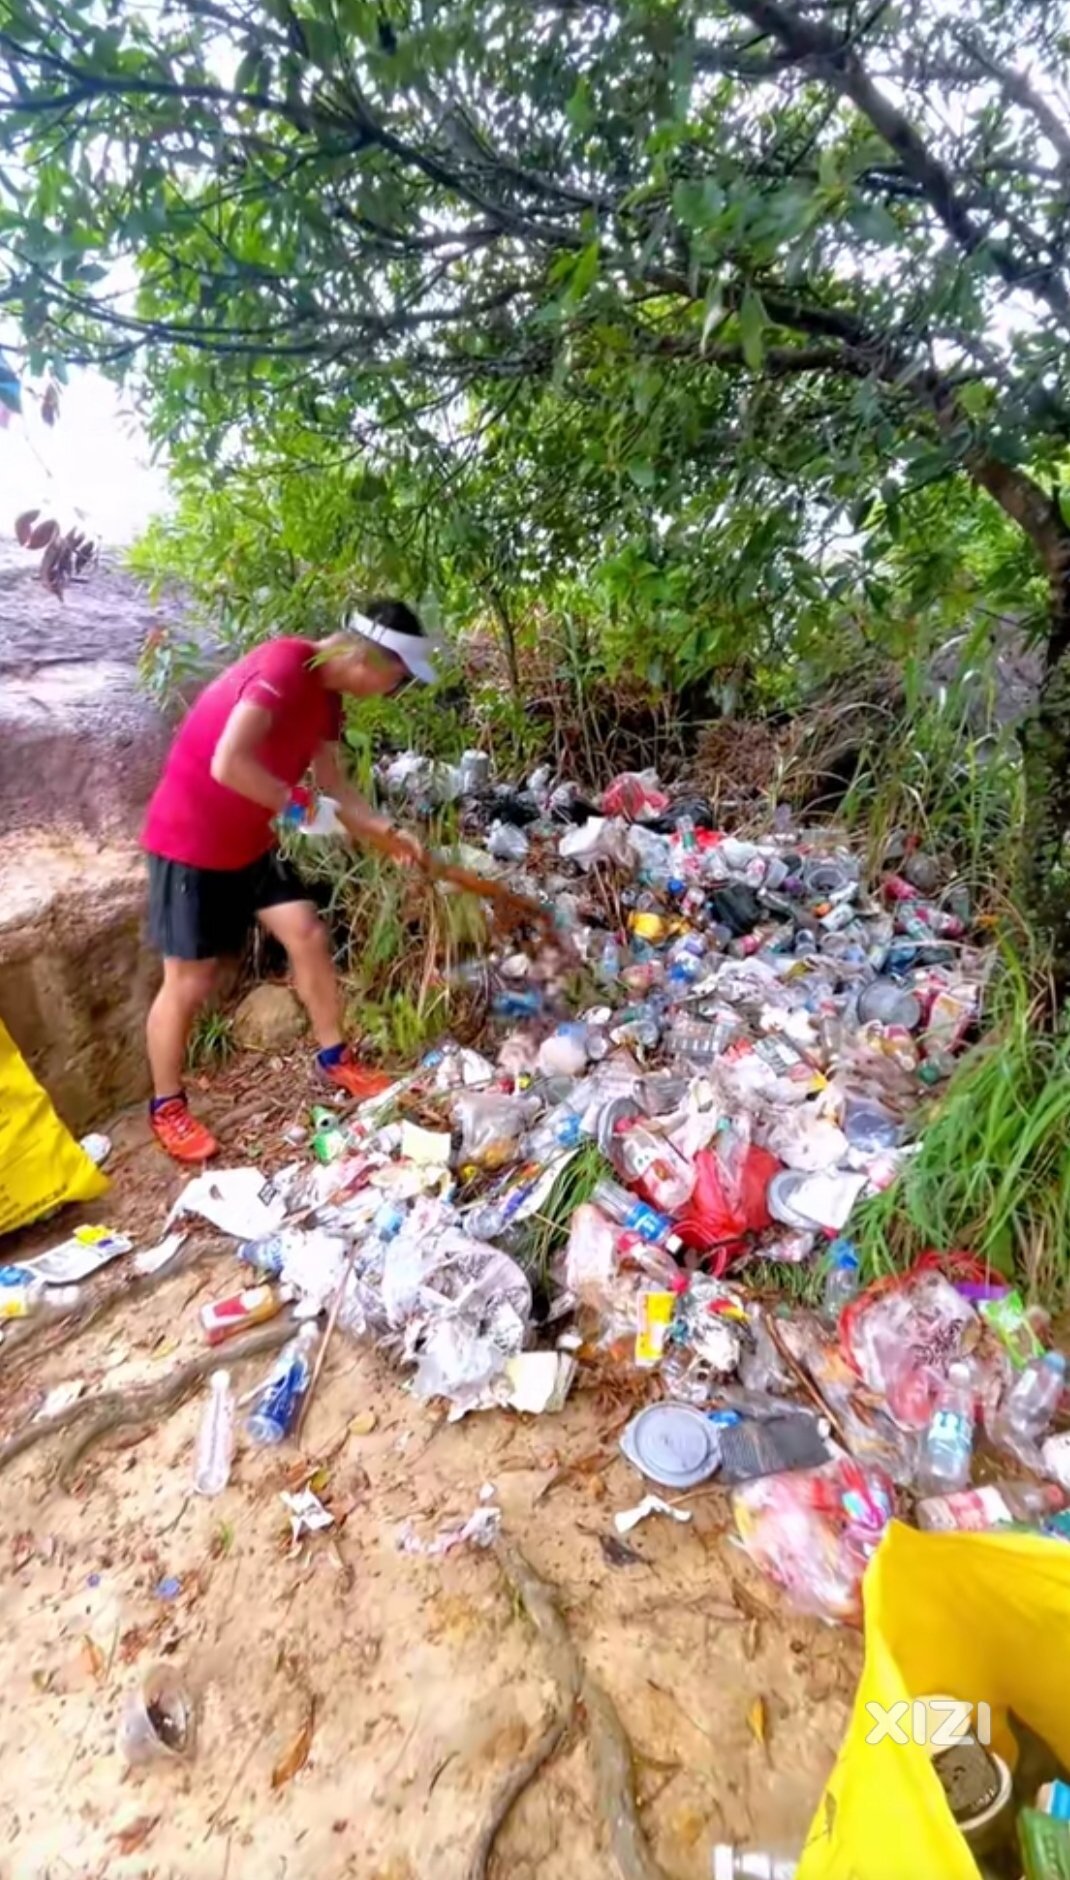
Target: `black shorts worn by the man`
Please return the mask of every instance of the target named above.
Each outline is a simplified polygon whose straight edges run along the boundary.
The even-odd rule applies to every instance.
[[[149,938],[165,959],[241,953],[261,908],[316,901],[276,850],[248,869],[192,869],[149,855]]]

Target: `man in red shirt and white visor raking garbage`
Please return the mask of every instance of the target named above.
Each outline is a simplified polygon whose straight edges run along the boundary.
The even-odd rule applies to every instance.
[[[182,720],[141,846],[149,852],[149,934],[164,955],[164,983],[149,1013],[150,1120],[179,1162],[201,1162],[218,1143],[190,1113],[182,1066],[190,1026],[209,998],[220,957],[239,953],[254,919],[282,940],[316,1038],[318,1073],[350,1096],[387,1079],[354,1062],[327,931],[299,874],[276,848],[275,820],[312,769],[338,805],[342,827],[419,861],[416,837],[376,816],[344,778],[342,696],[431,682],[434,649],[404,602],[370,602],[325,641],[271,639],[220,673]]]

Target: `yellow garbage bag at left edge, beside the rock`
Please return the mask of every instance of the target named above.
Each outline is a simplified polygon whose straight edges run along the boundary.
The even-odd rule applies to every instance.
[[[0,1025],[0,1233],[105,1188]]]

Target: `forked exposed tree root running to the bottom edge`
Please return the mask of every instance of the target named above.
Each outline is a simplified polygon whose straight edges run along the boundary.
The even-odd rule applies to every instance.
[[[513,1542],[502,1540],[495,1547],[498,1566],[510,1587],[523,1602],[549,1656],[549,1669],[560,1696],[560,1711],[555,1722],[543,1730],[540,1741],[523,1763],[511,1773],[498,1792],[498,1797],[480,1833],[476,1852],[468,1865],[466,1880],[483,1880],[495,1839],[504,1825],[513,1803],[527,1784],[538,1775],[568,1730],[577,1707],[587,1718],[590,1733],[590,1758],[594,1765],[594,1792],[598,1807],[609,1829],[609,1846],[621,1880],[668,1880],[664,1867],[658,1867],[651,1854],[632,1782],[632,1745],[624,1726],[617,1716],[617,1707],[602,1684],[590,1677],[583,1658],[572,1643],[572,1634],[560,1617],[557,1596],[551,1585],[536,1574],[534,1566]]]

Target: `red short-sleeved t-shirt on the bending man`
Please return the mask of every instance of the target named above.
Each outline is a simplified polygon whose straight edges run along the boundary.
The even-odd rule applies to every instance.
[[[342,729],[342,701],[310,664],[310,639],[269,639],[205,686],[167,752],[145,812],[141,846],[194,869],[246,869],[275,844],[273,812],[216,784],[212,756],[239,699],[271,713],[256,756],[280,784],[299,784],[320,744]]]

